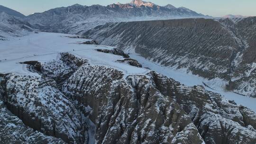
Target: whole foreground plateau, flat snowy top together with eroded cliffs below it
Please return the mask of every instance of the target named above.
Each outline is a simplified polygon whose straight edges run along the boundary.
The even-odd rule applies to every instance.
[[[256,143],[249,106],[135,54],[156,72],[121,50],[68,34],[28,32],[0,41],[0,52],[0,142]]]

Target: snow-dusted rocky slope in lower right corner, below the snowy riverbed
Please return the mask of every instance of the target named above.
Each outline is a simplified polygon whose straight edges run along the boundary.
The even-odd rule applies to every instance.
[[[238,142],[237,138],[243,139],[241,143],[244,144],[256,142],[254,112],[201,86],[185,87],[165,76],[156,75],[156,87],[189,114],[206,144],[232,144]]]

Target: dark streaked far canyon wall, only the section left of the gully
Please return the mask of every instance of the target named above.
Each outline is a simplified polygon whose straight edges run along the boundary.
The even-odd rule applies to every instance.
[[[96,27],[84,35],[104,45],[115,45],[155,62],[189,67],[214,78],[229,73],[233,53],[239,50],[228,30],[212,19],[123,22]]]

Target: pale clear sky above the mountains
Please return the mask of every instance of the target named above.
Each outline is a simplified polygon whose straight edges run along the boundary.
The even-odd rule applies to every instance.
[[[112,3],[128,3],[131,0],[0,0],[0,5],[17,10],[24,15],[44,12],[57,7],[73,4],[91,6],[93,4],[108,5]],[[221,17],[228,14],[256,16],[256,0],[144,0],[164,6],[186,7],[204,15]]]

